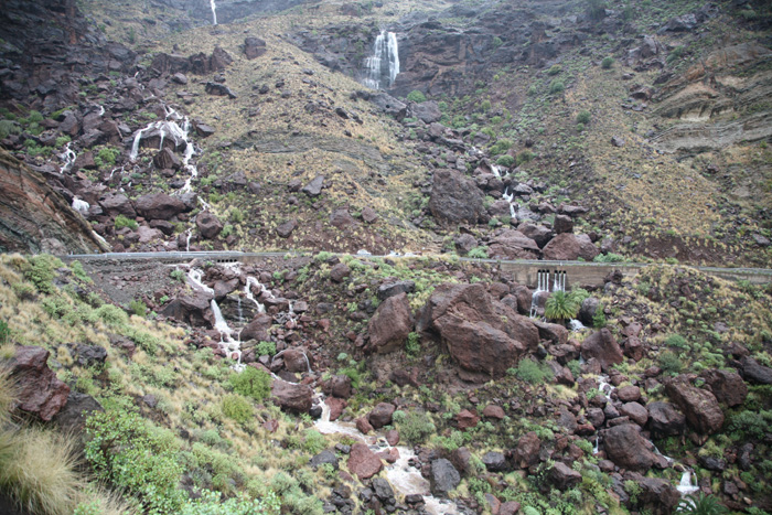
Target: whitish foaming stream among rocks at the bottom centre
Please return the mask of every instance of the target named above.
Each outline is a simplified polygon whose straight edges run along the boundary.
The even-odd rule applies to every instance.
[[[388,451],[396,449],[399,458],[393,464],[385,468],[386,479],[392,484],[396,493],[400,495],[420,495],[423,497],[423,511],[431,515],[455,515],[458,507],[448,500],[439,500],[431,495],[431,484],[422,475],[421,471],[415,466],[410,466],[410,460],[416,458],[416,453],[404,446],[392,447],[380,436],[362,434],[354,422],[330,421],[330,407],[324,403],[324,396],[317,394],[315,401],[322,406],[322,416],[314,422],[314,428],[322,434],[345,434],[361,442],[366,443],[371,448],[375,448],[375,452]]]

